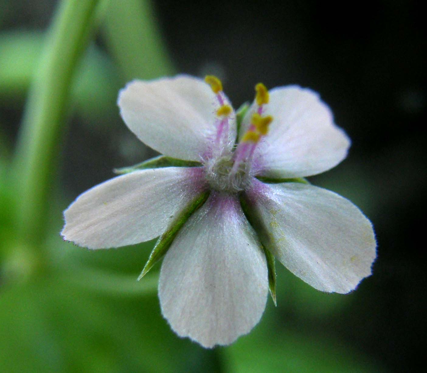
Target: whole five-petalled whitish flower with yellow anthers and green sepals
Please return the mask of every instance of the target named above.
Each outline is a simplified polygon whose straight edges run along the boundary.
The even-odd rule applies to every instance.
[[[133,81],[126,125],[164,156],[81,194],[64,211],[65,240],[100,249],[159,237],[142,277],[164,256],[161,311],[204,347],[248,333],[275,302],[273,255],[314,288],[354,290],[371,274],[370,221],[305,176],[336,166],[350,141],[318,94],[267,91],[234,112],[214,76]],[[127,172],[131,171],[131,172]]]

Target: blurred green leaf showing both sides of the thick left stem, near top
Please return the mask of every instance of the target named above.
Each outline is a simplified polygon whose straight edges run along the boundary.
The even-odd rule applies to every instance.
[[[0,34],[0,97],[23,100],[40,59],[45,41],[42,32],[3,32]],[[117,70],[105,53],[92,46],[76,68],[71,101],[74,110],[99,129],[107,129],[117,115],[116,100],[120,83]],[[102,123],[102,126],[99,126]]]

